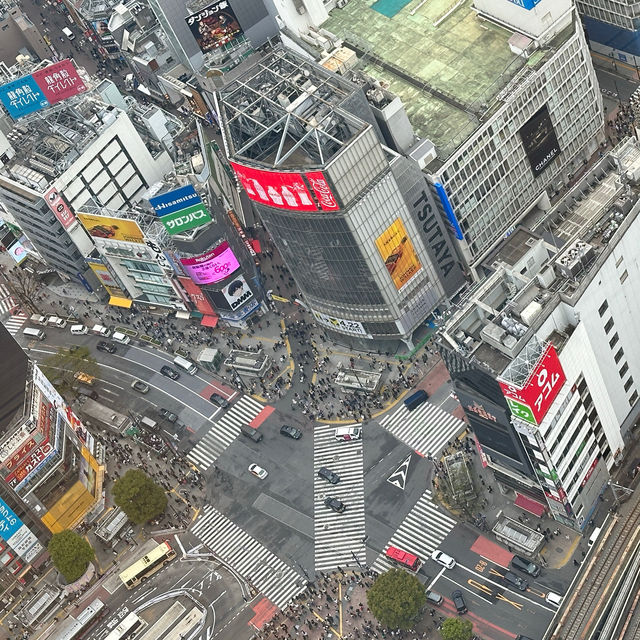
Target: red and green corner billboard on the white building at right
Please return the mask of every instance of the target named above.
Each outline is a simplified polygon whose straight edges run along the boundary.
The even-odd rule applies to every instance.
[[[540,424],[566,380],[558,354],[549,343],[522,386],[500,379],[498,382],[514,417]]]

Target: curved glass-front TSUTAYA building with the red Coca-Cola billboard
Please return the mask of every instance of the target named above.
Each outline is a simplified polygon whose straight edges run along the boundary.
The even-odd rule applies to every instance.
[[[218,102],[231,165],[317,322],[410,342],[464,280],[424,175],[383,146],[362,89],[278,47]]]

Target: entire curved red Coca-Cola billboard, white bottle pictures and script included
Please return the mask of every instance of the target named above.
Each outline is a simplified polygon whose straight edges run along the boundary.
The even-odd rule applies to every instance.
[[[334,211],[340,208],[321,171],[312,171],[303,177],[301,173],[265,171],[237,162],[230,164],[250,200],[289,211]]]

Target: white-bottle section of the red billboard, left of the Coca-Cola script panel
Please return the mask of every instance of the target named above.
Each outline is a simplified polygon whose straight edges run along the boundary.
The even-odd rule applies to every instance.
[[[264,171],[229,163],[242,182],[250,200],[277,209],[317,211],[318,207],[304,184],[302,174],[283,171]]]

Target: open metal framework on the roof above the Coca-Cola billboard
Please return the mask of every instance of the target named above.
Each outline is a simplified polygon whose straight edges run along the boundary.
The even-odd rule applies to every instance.
[[[331,74],[277,47],[220,91],[232,156],[281,168],[294,159],[298,166],[325,164],[366,126],[339,108],[350,93]]]

